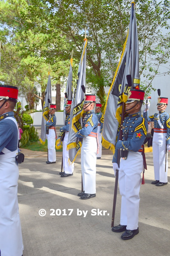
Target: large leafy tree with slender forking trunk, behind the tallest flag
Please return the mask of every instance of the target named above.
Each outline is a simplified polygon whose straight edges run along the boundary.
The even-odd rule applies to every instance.
[[[4,2],[4,6],[9,2],[12,1]],[[37,61],[41,57],[54,65],[68,60],[74,47],[74,58],[78,62],[86,27],[87,82],[104,103],[104,86],[112,81],[127,35],[131,1],[32,0],[26,4],[24,10],[15,11],[11,16],[8,13],[3,19],[5,24],[11,19],[22,26],[16,29],[23,42],[21,51],[26,56],[33,54]],[[145,90],[154,89],[152,80],[159,74],[159,66],[169,59],[170,34],[162,31],[169,28],[169,7],[167,0],[159,3],[136,0],[140,76],[144,76]]]

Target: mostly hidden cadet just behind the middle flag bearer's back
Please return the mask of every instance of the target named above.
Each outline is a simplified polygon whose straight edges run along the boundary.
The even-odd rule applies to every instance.
[[[97,159],[101,159],[102,157],[102,131],[103,131],[104,116],[101,112],[101,108],[102,108],[102,104],[96,103],[95,112],[98,118],[97,136],[99,141],[99,153],[97,154]]]

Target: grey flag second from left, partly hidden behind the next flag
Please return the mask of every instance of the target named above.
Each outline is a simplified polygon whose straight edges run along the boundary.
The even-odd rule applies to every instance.
[[[73,58],[70,59],[70,70],[68,73],[68,79],[67,79],[67,86],[66,86],[66,92],[65,92],[65,98],[64,98],[64,125],[66,121],[66,104],[67,99],[72,100],[73,93],[72,93],[72,87],[73,87]],[[64,132],[60,132],[58,140],[56,140],[55,147],[56,149],[61,148],[61,141],[62,137],[64,135]]]

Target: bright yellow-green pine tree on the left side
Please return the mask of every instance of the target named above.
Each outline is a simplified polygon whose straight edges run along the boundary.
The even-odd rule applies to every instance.
[[[43,34],[40,30],[37,30],[36,27],[32,29],[32,31],[30,29],[27,30],[25,23],[28,25],[29,22],[24,21],[22,16],[27,15],[29,4],[29,1],[24,0],[1,1],[0,3],[0,13],[3,16],[1,23],[4,29],[4,34],[1,34],[4,37],[5,47],[10,48],[10,51],[4,48],[2,56],[3,66],[1,66],[2,72],[0,73],[0,78],[7,84],[13,83],[13,85],[17,85],[20,94],[25,96],[30,108],[33,108],[34,102],[36,101],[35,97],[41,99],[43,106],[49,63],[51,63],[48,61],[50,60],[50,56],[46,55],[44,52],[46,52],[48,44],[50,44],[51,47],[53,47],[53,45],[51,45],[51,41],[49,42],[51,34]],[[34,16],[36,22],[39,22],[40,20],[37,18],[37,15]],[[43,23],[39,23],[39,26],[43,26]],[[23,34],[25,34],[24,40]],[[8,37],[8,41],[5,39],[5,36]],[[61,42],[60,36],[59,39]],[[56,38],[53,40],[56,43]],[[28,49],[32,49],[32,47],[34,48],[33,51],[29,52]],[[43,54],[41,54],[41,52]],[[55,56],[55,60],[50,65],[50,74],[52,73],[55,80],[53,83],[56,83],[58,77],[67,75],[69,68],[69,64],[68,68],[65,68],[67,63],[69,63],[69,60],[62,60],[61,63],[59,58]],[[41,84],[41,96],[34,92],[37,77],[39,84]],[[60,81],[57,83],[60,84]],[[60,90],[60,88],[58,88],[58,90]],[[57,102],[60,102],[60,98],[57,99]]]

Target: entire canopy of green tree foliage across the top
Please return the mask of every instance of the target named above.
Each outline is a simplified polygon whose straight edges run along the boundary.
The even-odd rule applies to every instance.
[[[135,8],[140,76],[145,79],[146,90],[152,90],[152,80],[170,56],[170,2],[136,0]],[[43,101],[48,63],[52,83],[67,77],[73,48],[74,63],[80,61],[86,27],[87,81],[104,103],[104,86],[111,84],[115,74],[128,31],[130,10],[130,0],[0,1],[0,36],[4,48],[0,80],[18,85],[26,98],[33,99],[34,83],[39,77]],[[73,70],[77,70],[76,67]],[[165,73],[168,72],[169,69]]]

